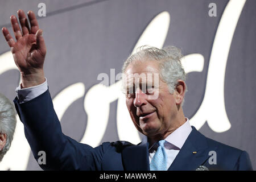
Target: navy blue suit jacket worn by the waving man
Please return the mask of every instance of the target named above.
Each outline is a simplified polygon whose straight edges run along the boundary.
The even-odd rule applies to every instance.
[[[148,143],[137,145],[125,141],[105,142],[93,148],[64,135],[53,109],[49,90],[31,101],[14,104],[28,143],[36,160],[39,151],[46,152],[47,170],[149,170]],[[196,151],[196,154],[192,152]],[[209,152],[216,152],[216,164],[209,163]],[[179,154],[168,170],[196,170],[205,166],[212,170],[251,170],[249,155],[204,137],[192,126]]]

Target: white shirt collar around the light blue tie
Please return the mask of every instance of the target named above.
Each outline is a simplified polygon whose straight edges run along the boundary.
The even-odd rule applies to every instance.
[[[192,131],[192,127],[189,123],[189,119],[185,118],[187,121],[178,127],[174,132],[172,132],[168,137],[166,137],[166,143],[164,144],[164,147],[167,149],[175,149],[180,150],[183,144],[185,143],[185,140],[187,140],[188,135]],[[151,148],[155,148],[157,143],[154,143],[148,150],[151,150]]]

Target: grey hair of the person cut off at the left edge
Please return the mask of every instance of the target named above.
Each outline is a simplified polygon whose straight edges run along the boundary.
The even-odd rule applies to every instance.
[[[0,162],[9,150],[16,127],[16,111],[11,101],[0,93],[0,133],[6,134],[6,143],[0,151]]]

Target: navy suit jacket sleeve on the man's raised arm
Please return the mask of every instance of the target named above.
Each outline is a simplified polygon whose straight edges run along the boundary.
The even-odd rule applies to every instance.
[[[39,151],[46,152],[46,164],[40,164],[41,168],[48,170],[101,169],[102,156],[110,146],[109,142],[92,148],[64,135],[53,109],[49,90],[23,104],[19,104],[16,97],[14,104],[20,121],[24,124],[25,136],[34,158],[38,160]]]

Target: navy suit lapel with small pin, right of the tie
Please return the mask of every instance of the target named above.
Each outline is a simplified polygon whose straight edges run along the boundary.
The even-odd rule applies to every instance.
[[[168,170],[196,170],[210,157],[208,154],[206,138],[192,126],[191,133]]]

